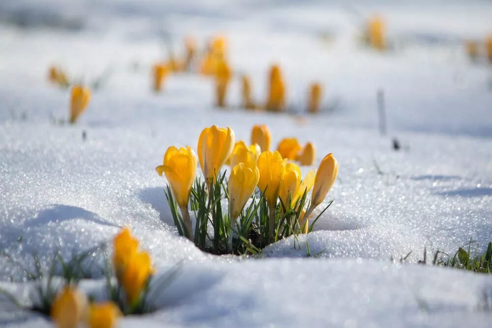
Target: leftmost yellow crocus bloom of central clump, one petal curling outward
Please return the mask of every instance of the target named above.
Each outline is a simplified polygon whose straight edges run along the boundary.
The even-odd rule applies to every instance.
[[[180,208],[187,208],[191,187],[196,177],[197,159],[191,147],[177,149],[169,147],[164,154],[163,165],[155,168],[155,171],[166,176],[171,186],[173,195]]]

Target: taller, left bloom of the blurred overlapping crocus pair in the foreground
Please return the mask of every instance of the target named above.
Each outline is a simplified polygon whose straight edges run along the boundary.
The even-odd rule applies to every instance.
[[[113,267],[116,277],[121,279],[128,260],[137,252],[138,240],[131,236],[130,230],[124,228],[118,236],[113,239]]]

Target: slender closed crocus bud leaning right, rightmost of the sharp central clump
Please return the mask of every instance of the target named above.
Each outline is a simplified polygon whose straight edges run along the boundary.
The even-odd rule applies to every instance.
[[[311,196],[311,208],[314,209],[317,207],[323,200],[326,195],[332,188],[335,183],[335,179],[337,179],[338,175],[338,162],[333,157],[332,153],[323,158],[321,163],[319,164],[318,171],[316,171],[316,178],[314,179],[314,186],[312,188],[312,196]],[[310,214],[308,210],[307,213]]]

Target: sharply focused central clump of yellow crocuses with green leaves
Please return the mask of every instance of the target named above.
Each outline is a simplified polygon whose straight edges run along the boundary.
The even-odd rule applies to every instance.
[[[230,127],[219,128],[213,125],[203,129],[198,139],[197,150],[198,161],[205,179],[204,188],[200,187],[198,180],[195,181],[197,156],[194,151],[189,146],[181,149],[171,146],[167,149],[164,163],[157,166],[156,171],[159,175],[164,173],[167,178],[168,190],[173,196],[173,198],[168,197],[168,201],[172,212],[173,209],[177,209],[173,205],[174,202],[181,211],[181,216],[176,212],[173,212],[173,216],[175,223],[179,225],[179,231],[183,231],[184,236],[193,240],[198,239],[199,235],[196,231],[193,235],[191,231],[192,224],[188,212],[190,199],[193,199],[192,210],[195,211],[196,229],[206,229],[207,221],[211,217],[214,229],[220,229],[218,235],[222,238],[224,235],[230,236],[231,229],[244,231],[242,225],[246,224],[245,222],[251,224],[252,217],[256,215],[251,206],[244,212],[249,199],[252,199],[252,204],[255,203],[255,190],[258,190],[261,195],[260,201],[264,200],[268,210],[267,220],[263,223],[259,220],[258,223],[263,225],[260,228],[268,230],[264,238],[266,240],[262,240],[264,245],[276,240],[274,236],[279,235],[278,229],[285,220],[285,215],[292,216],[293,212],[297,213],[298,222],[294,223],[297,231],[307,231],[309,214],[322,203],[335,182],[338,174],[337,161],[332,154],[327,155],[316,172],[309,171],[302,179],[299,166],[289,160],[293,158],[304,160],[303,157],[306,157],[311,161],[311,157],[314,157],[313,146],[308,144],[303,150],[300,146],[290,148],[286,145],[279,147],[282,151],[285,150],[282,154],[280,151],[269,150],[270,139],[270,131],[265,125],[253,127],[250,145],[242,140],[236,142],[235,134]],[[303,151],[300,153],[301,150]],[[224,175],[220,171],[224,164],[230,166],[230,174],[227,193],[221,195]],[[307,193],[311,189],[311,201],[304,209]],[[213,198],[217,192],[218,197]],[[224,217],[220,210],[222,198],[228,199],[229,202],[228,215]],[[178,217],[179,220],[176,220]],[[205,220],[205,223],[200,220]],[[301,230],[301,227],[304,228]],[[198,245],[199,241],[195,240],[195,243]]]

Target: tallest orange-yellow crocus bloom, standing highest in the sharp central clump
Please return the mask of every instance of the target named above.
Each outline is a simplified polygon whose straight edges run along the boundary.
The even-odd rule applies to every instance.
[[[203,129],[198,138],[198,159],[203,176],[208,183],[215,181],[234,145],[234,131],[230,127],[219,128],[212,125]]]

